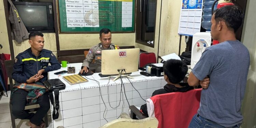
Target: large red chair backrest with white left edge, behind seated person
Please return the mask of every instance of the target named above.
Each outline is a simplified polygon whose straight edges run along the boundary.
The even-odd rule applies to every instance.
[[[158,128],[187,128],[199,108],[201,90],[153,96],[147,99],[148,115],[157,118]]]

